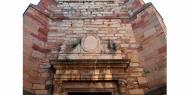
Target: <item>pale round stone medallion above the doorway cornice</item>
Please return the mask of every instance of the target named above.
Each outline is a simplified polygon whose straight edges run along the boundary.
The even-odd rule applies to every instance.
[[[99,46],[99,40],[95,36],[86,36],[82,40],[82,47],[87,52],[93,52]]]

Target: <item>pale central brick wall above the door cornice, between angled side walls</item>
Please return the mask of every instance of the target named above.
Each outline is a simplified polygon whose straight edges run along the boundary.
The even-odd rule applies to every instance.
[[[120,16],[127,18],[129,9],[140,7],[143,3],[138,0],[124,2],[114,0],[94,0],[94,2],[59,0],[57,7],[52,10],[54,11],[54,17],[52,17],[61,18],[60,15],[64,17],[61,21],[56,19],[49,22],[50,31],[47,47],[51,49],[51,53],[48,57],[55,58],[57,56],[59,45],[61,45],[60,59],[64,59],[66,56],[71,59],[122,59],[128,56],[133,57],[133,55],[138,56],[139,45],[136,43],[130,23],[125,19],[111,18]],[[70,43],[89,35],[96,36],[100,41],[101,46],[98,47],[96,54],[85,52],[81,45],[72,51],[65,50]],[[114,55],[108,52],[107,44],[109,41],[117,44],[118,49]],[[135,58],[137,60],[137,57],[133,59]]]

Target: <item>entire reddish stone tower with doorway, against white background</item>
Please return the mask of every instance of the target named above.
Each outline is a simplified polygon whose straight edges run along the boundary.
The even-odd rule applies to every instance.
[[[24,95],[144,95],[166,85],[166,27],[143,0],[41,0],[23,15]]]

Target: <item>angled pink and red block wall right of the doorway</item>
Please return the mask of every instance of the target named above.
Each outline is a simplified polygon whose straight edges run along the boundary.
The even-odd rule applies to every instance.
[[[137,42],[141,45],[140,61],[149,86],[166,83],[166,28],[154,6],[147,7],[132,22]]]

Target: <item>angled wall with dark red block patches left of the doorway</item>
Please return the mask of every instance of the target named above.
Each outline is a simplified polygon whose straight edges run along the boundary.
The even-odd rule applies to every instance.
[[[36,84],[43,82],[39,78],[40,64],[48,52],[45,48],[48,18],[32,6],[28,7],[23,17],[24,93],[34,93],[33,89],[38,87]],[[42,86],[39,87],[42,88]]]

